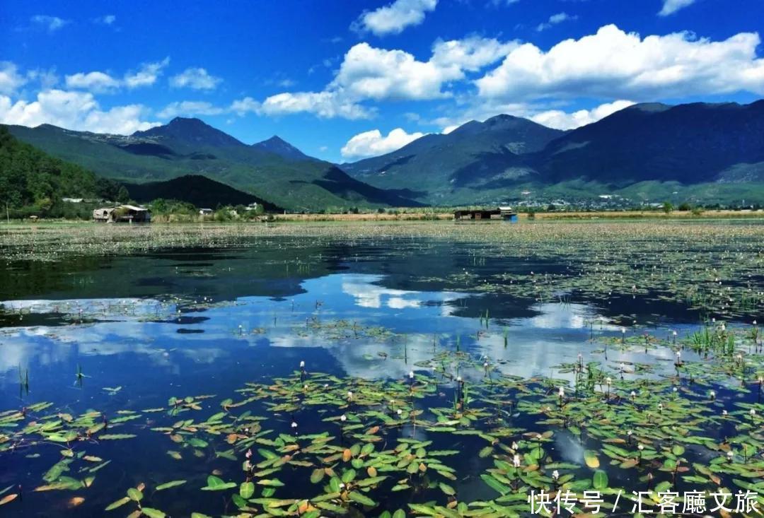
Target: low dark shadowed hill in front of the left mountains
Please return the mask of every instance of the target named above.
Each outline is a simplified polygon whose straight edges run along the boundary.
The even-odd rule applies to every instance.
[[[248,205],[256,202],[263,205],[267,211],[283,210],[269,201],[202,175],[179,176],[163,182],[125,184],[125,187],[130,192],[130,198],[141,203],[164,198],[186,201],[200,208],[216,208],[218,205]]]

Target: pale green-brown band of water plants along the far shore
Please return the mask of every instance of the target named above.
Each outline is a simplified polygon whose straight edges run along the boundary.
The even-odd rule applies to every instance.
[[[622,214],[622,213],[619,213]],[[251,240],[277,236],[319,240],[442,239],[461,243],[516,246],[534,255],[556,255],[559,246],[587,248],[592,240],[620,243],[629,248],[634,240],[670,240],[675,249],[691,249],[698,240],[725,243],[730,239],[764,242],[762,213],[749,213],[737,221],[721,212],[713,219],[702,217],[592,217],[581,219],[520,220],[519,224],[453,220],[356,220],[364,214],[341,214],[335,220],[312,220],[309,215],[286,214],[264,223],[96,224],[92,222],[45,222],[0,224],[0,251],[8,260],[65,259],[66,254],[112,256],[144,253],[170,247],[247,246]],[[299,217],[298,217],[299,216]],[[326,216],[326,215],[325,215]],[[374,216],[374,215],[367,215]],[[382,216],[377,214],[377,216]],[[283,219],[281,219],[283,218]],[[677,224],[681,222],[681,235]],[[516,252],[512,252],[516,254]]]

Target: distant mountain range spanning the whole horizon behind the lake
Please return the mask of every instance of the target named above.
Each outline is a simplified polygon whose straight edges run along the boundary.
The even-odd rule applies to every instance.
[[[181,117],[130,136],[47,124],[9,130],[110,179],[135,184],[203,175],[290,210],[495,203],[529,193],[764,202],[764,100],[633,105],[568,131],[502,114],[340,165],[306,156],[279,137],[247,145]]]

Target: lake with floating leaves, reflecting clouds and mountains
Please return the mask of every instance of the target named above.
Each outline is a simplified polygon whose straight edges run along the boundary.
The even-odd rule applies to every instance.
[[[5,243],[0,499],[18,496],[0,512],[526,516],[542,489],[606,507],[621,491],[626,512],[632,491],[656,508],[650,491],[764,494],[764,227],[448,225],[106,256]]]

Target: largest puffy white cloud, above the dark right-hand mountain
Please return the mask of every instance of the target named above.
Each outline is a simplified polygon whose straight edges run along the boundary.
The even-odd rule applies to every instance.
[[[552,96],[642,100],[740,90],[764,94],[759,43],[756,33],[724,41],[688,32],[641,38],[606,25],[548,52],[532,43],[520,45],[476,84],[483,98],[518,101]]]

